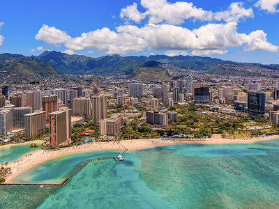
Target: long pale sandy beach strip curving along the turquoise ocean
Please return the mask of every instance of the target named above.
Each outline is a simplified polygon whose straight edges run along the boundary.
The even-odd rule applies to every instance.
[[[61,148],[54,151],[39,149],[24,155],[24,157],[21,157],[14,162],[8,163],[7,167],[10,167],[11,174],[7,176],[5,183],[13,183],[13,178],[19,176],[20,173],[23,173],[24,171],[27,171],[28,169],[31,169],[31,167],[34,167],[40,163],[75,153],[86,153],[96,150],[123,150],[124,148],[128,148],[128,150],[140,150],[154,146],[166,146],[171,144],[250,144],[256,141],[267,141],[277,138],[279,138],[279,135],[255,137],[251,139],[223,139],[220,134],[213,134],[213,137],[207,138],[205,141],[198,141],[201,139],[193,139],[193,141],[180,141],[181,139],[162,140],[161,138],[129,139],[123,141],[91,142],[79,146]],[[34,141],[29,142],[29,144],[31,143],[34,143]]]

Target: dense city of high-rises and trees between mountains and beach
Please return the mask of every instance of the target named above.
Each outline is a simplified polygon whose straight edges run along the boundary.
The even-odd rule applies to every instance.
[[[169,75],[176,68],[166,65]],[[50,75],[3,77],[1,144],[45,139],[45,148],[90,141],[225,139],[279,133],[278,79],[184,70],[172,79]]]

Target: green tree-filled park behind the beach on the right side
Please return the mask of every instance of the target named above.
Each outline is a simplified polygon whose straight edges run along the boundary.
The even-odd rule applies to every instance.
[[[209,109],[209,107],[196,104],[176,105],[170,107],[170,109],[177,111],[178,118],[175,123],[172,123],[172,127],[168,127],[165,130],[165,134],[190,134],[195,138],[222,134],[223,137],[228,138],[244,138],[279,133],[279,127],[276,125],[264,130],[243,130],[243,127],[249,126],[251,122],[253,122],[252,125],[254,126],[268,125],[265,119],[252,120],[248,116],[230,116],[212,112],[213,110]]]

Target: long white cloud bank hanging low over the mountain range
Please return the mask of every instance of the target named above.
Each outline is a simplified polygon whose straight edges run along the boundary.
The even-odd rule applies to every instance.
[[[58,29],[54,28],[54,31],[56,30]],[[264,31],[238,33],[236,22],[205,24],[193,30],[171,24],[146,24],[142,27],[122,25],[117,27],[116,31],[103,28],[82,33],[81,36],[66,40],[64,45],[68,54],[75,53],[75,50],[92,48],[107,54],[125,54],[148,49],[167,51],[170,55],[186,54],[187,50],[193,50],[194,55],[210,56],[225,54],[228,47],[241,46],[244,47],[243,52],[277,52],[278,46],[268,42],[266,36]]]

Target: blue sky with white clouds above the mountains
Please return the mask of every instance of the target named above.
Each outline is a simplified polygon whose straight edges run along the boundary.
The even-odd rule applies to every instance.
[[[188,54],[279,63],[279,1],[239,2],[1,0],[0,53]]]

